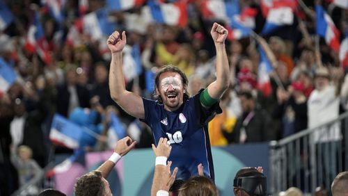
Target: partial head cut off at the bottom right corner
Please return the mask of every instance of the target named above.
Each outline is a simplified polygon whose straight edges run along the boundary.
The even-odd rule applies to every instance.
[[[340,172],[331,185],[331,192],[333,196],[348,195],[348,171]]]

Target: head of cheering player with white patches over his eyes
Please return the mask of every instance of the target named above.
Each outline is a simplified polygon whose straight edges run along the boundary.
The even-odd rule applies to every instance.
[[[155,78],[155,96],[168,111],[175,111],[189,99],[187,76],[172,65],[166,65],[157,72]]]

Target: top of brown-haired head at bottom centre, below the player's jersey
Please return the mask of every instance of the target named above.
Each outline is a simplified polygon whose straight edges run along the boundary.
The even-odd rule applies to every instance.
[[[191,177],[179,189],[179,196],[217,196],[218,190],[212,180],[207,177]]]

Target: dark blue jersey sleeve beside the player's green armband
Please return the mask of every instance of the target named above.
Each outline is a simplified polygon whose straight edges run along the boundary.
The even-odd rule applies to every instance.
[[[205,108],[201,103],[200,103],[200,94],[203,92],[204,89],[201,89],[196,95],[194,95],[193,99],[195,102],[195,112],[197,115],[198,123],[203,126],[212,118],[219,113],[222,113],[222,110],[219,106],[220,101],[217,101],[213,106],[210,108]]]

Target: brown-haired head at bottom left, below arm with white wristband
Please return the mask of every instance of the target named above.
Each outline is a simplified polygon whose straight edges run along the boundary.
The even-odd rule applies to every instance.
[[[104,179],[102,172],[92,171],[84,174],[82,177],[77,179],[75,185],[75,195],[76,196],[111,196],[111,190],[109,187],[109,182]]]

